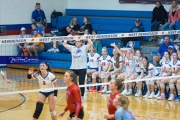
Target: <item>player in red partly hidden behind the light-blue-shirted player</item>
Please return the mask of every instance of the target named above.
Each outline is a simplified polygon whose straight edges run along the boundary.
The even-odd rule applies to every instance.
[[[110,95],[109,101],[108,101],[108,112],[104,115],[105,119],[108,120],[115,120],[114,114],[116,112],[116,108],[113,105],[113,100],[116,97],[117,94],[120,94],[120,90],[122,88],[122,82],[119,79],[112,79],[109,83],[109,90],[112,91],[112,94]]]

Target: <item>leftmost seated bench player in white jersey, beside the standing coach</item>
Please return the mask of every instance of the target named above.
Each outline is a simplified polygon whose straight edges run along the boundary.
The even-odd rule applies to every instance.
[[[100,55],[98,53],[95,53],[95,49],[92,46],[90,48],[90,53],[88,53],[89,63],[88,63],[87,75],[92,75],[94,72],[98,71],[99,58]]]

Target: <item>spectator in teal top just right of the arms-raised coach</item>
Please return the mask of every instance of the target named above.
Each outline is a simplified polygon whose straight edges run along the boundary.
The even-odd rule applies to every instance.
[[[96,35],[96,34],[97,34],[97,31],[93,30],[92,35]],[[96,52],[101,55],[102,45],[101,45],[100,40],[92,39],[92,42],[93,42],[93,46]]]

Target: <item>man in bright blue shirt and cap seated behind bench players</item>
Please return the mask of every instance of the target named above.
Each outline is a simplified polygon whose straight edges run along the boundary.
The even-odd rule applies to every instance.
[[[157,55],[156,55],[156,56],[153,56],[153,64],[154,64],[154,66],[157,66],[157,65],[158,65],[158,63],[160,62],[161,58],[164,56],[164,52],[165,52],[165,51],[168,51],[168,47],[169,47],[170,45],[171,45],[171,46],[174,46],[174,43],[172,43],[172,42],[170,41],[169,36],[166,36],[166,37],[164,38],[164,43],[162,43],[161,46],[160,46],[159,49],[158,49]],[[176,50],[174,49],[174,51],[176,51]]]

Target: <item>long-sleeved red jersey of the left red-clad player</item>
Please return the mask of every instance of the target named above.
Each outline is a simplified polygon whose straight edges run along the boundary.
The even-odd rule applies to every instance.
[[[79,115],[79,111],[83,109],[81,102],[80,90],[76,84],[72,84],[66,90],[66,101],[67,107],[64,109],[65,111],[69,110],[70,113],[75,112],[75,115]]]

